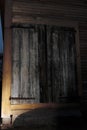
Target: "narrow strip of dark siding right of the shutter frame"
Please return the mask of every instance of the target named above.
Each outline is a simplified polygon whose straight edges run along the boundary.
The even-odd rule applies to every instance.
[[[84,102],[87,102],[87,24],[80,24],[80,53]]]

